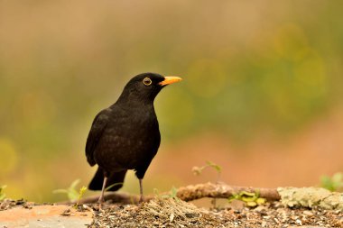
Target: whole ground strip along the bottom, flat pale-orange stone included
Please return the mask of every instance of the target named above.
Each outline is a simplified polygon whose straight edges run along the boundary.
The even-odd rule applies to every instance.
[[[40,211],[37,208],[41,208]],[[343,227],[343,213],[339,210],[289,208],[279,202],[255,208],[236,204],[209,209],[198,208],[180,199],[157,197],[141,205],[107,203],[99,208],[97,204],[90,204],[74,209],[70,205],[34,205],[25,201],[6,200],[0,203],[0,209],[1,228],[27,227],[28,224],[30,227],[62,225],[71,228]],[[19,219],[26,223],[15,223]]]

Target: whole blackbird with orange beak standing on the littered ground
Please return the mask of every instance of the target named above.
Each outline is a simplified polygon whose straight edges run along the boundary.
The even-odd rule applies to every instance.
[[[105,188],[116,191],[123,187],[126,171],[134,169],[139,179],[140,202],[143,201],[142,179],[160,146],[159,123],[153,107],[157,94],[179,77],[162,77],[143,73],[132,78],[114,105],[95,117],[86,143],[90,166],[98,165],[90,190],[101,190],[99,203],[104,202]]]

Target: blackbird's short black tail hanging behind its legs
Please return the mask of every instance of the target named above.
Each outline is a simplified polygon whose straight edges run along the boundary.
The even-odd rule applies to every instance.
[[[123,187],[123,182],[124,182],[126,171],[127,170],[124,169],[118,172],[110,173],[110,175],[107,178],[107,184],[106,184],[106,187],[110,187],[110,188],[108,188],[107,191],[116,191],[120,187]],[[101,190],[103,182],[104,182],[104,170],[101,168],[97,168],[96,175],[94,175],[94,178],[90,181],[88,189]]]

